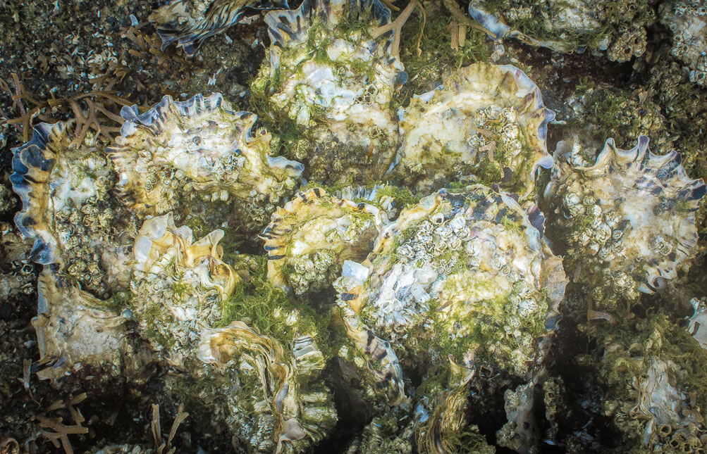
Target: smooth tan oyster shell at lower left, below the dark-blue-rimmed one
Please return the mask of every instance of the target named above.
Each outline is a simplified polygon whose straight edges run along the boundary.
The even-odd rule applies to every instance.
[[[70,277],[49,266],[37,285],[38,311],[32,324],[37,331],[41,379],[56,381],[81,366],[93,366],[107,375],[117,375],[122,366],[126,319],[108,309]]]

